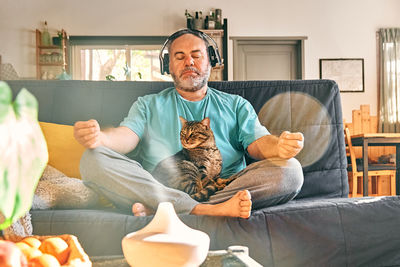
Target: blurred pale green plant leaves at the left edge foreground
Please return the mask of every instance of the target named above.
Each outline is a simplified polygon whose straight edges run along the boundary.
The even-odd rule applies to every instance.
[[[0,81],[0,230],[29,211],[48,161],[47,145],[38,120],[38,102],[26,89],[15,101]]]

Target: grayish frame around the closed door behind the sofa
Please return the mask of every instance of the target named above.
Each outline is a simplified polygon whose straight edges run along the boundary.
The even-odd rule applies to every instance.
[[[297,79],[305,79],[305,40],[307,36],[231,36],[233,43],[233,79],[238,73],[238,66],[235,59],[239,57],[239,47],[241,45],[296,45],[297,48]],[[300,76],[301,74],[301,76]]]

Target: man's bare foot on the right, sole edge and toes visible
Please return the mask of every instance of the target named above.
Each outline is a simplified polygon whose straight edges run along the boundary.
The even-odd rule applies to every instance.
[[[251,195],[248,190],[237,192],[232,198],[218,204],[198,204],[191,214],[249,218]]]

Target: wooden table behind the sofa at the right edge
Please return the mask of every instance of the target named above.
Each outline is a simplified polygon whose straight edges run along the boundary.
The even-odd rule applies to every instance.
[[[400,195],[400,133],[368,133],[351,136],[353,146],[362,146],[363,158],[363,194],[368,196],[368,147],[396,147],[396,194]]]

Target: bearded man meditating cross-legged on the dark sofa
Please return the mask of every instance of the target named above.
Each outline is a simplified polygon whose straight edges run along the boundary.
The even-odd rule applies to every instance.
[[[85,184],[136,216],[152,214],[159,202],[169,201],[178,213],[248,218],[252,208],[294,198],[303,183],[300,163],[293,158],[303,148],[303,135],[270,135],[248,101],[208,88],[211,66],[204,35],[182,30],[172,36],[169,70],[175,88],[139,98],[119,127],[100,130],[95,120],[75,123],[76,140],[88,148],[81,160]],[[206,203],[165,187],[150,173],[181,149],[179,116],[210,118],[223,158],[221,176],[237,176]],[[135,148],[144,168],[124,155]],[[246,167],[246,152],[260,161]]]

